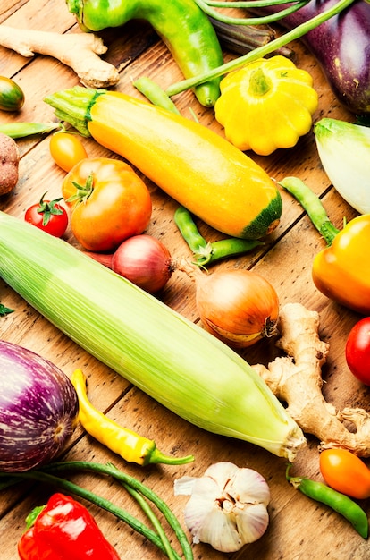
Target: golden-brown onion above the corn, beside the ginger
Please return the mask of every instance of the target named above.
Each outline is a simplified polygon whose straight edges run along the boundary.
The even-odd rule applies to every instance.
[[[249,270],[196,275],[197,309],[204,327],[234,348],[277,334],[279,300],[273,285]]]

